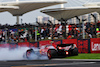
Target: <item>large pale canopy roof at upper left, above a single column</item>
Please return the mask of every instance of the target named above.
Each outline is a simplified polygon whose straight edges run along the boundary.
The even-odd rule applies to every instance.
[[[0,3],[0,12],[8,11],[14,16],[21,16],[39,8],[66,3],[66,1],[18,1]]]

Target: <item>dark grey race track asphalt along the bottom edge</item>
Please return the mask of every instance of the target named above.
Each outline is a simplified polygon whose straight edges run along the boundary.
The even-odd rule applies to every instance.
[[[100,60],[14,60],[0,61],[0,67],[100,67]]]

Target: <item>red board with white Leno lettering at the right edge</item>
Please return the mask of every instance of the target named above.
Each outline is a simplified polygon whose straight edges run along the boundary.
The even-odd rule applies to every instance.
[[[100,52],[100,38],[91,39],[91,53]]]

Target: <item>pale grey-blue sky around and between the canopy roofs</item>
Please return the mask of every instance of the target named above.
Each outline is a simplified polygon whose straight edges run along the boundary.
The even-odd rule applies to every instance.
[[[0,0],[0,1],[3,1],[3,0]],[[5,0],[5,1],[10,1],[10,0]],[[24,0],[21,0],[21,1],[24,1]],[[89,3],[89,2],[100,2],[100,0],[65,0],[65,1],[67,1],[68,3],[64,4],[64,7],[81,6],[82,4]],[[36,18],[38,16],[47,16],[46,14],[41,13],[40,10],[48,9],[48,8],[60,8],[60,5],[46,7],[46,8],[28,12],[24,14],[23,16],[20,16],[19,23],[21,23],[21,19],[23,19],[22,23],[32,23],[32,24],[34,23],[35,24]],[[12,16],[12,14],[10,14],[9,12],[2,12],[0,13],[0,24],[3,25],[6,23],[10,25],[15,24],[16,17]]]

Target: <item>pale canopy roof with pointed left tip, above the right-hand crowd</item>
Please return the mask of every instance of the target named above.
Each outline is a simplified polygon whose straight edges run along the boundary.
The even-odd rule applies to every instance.
[[[99,11],[100,11],[100,6],[45,9],[42,10],[41,12],[50,15],[60,21],[61,18],[63,18],[64,20],[68,20],[75,16],[80,16],[91,12],[99,12]]]

